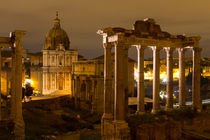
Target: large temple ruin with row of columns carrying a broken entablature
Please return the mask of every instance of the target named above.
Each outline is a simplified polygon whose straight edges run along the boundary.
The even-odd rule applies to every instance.
[[[166,51],[167,57],[167,104],[173,108],[173,51],[179,53],[179,106],[185,106],[185,50],[193,51],[192,101],[193,109],[201,111],[200,100],[200,36],[186,37],[171,35],[161,30],[154,19],[138,20],[133,29],[104,28],[97,32],[103,36],[104,47],[104,114],[101,121],[101,134],[104,139],[129,139],[129,127],[125,122],[128,98],[128,49],[135,46],[138,52],[137,113],[144,113],[144,49],[153,51],[153,108],[152,113],[160,110],[160,50]],[[111,49],[115,49],[115,85],[111,84]],[[114,113],[112,114],[111,93],[114,90]]]

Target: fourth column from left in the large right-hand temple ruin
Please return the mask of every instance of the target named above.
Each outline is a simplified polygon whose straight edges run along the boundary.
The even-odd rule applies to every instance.
[[[155,46],[153,50],[153,108],[152,113],[160,110],[160,48]]]

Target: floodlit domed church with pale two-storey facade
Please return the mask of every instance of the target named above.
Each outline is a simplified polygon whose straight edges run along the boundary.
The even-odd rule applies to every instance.
[[[61,28],[58,15],[47,33],[43,48],[42,94],[57,91],[71,92],[72,63],[78,61],[78,52],[70,49],[67,33]]]

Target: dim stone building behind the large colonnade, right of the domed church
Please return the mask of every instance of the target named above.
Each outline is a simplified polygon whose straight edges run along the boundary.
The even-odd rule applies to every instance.
[[[134,96],[134,64],[128,61],[128,94]],[[114,55],[112,55],[112,70],[114,71]],[[113,72],[114,73],[114,72]],[[72,66],[72,93],[81,103],[87,102],[86,109],[103,113],[104,107],[104,56],[92,60],[77,61]],[[112,76],[114,96],[114,75]],[[112,98],[114,99],[114,97]],[[114,101],[112,101],[114,103]]]

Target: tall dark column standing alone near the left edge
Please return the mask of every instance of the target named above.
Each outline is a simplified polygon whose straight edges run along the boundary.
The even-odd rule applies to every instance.
[[[15,31],[15,53],[16,53],[16,65],[15,65],[15,119],[14,119],[14,134],[15,139],[24,140],[25,139],[25,124],[22,114],[22,45],[21,38],[25,34],[24,31]]]

